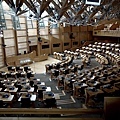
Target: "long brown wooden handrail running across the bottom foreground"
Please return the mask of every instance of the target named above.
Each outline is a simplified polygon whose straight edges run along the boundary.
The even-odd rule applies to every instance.
[[[0,108],[0,114],[103,114],[102,109]]]

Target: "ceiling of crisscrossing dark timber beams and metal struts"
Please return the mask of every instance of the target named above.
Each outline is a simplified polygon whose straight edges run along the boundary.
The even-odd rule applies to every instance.
[[[29,10],[39,20],[46,11],[50,20],[70,25],[97,25],[101,21],[120,19],[120,0],[101,0],[98,6],[85,4],[85,0],[1,0],[5,1],[16,15]],[[27,8],[23,9],[23,4]]]

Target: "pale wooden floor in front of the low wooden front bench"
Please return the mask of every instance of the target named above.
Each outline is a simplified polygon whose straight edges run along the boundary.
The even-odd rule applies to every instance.
[[[35,73],[45,73],[45,65],[46,64],[52,64],[52,63],[57,63],[59,60],[54,59],[52,57],[48,57],[48,60],[40,61],[40,62],[34,62],[30,64],[29,66],[32,68],[32,70]],[[7,72],[7,67],[3,67],[0,69],[0,71],[5,71]]]

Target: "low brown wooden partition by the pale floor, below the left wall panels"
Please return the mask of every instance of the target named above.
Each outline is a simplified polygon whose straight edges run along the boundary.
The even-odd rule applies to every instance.
[[[7,65],[18,66],[18,65],[21,65],[20,64],[21,59],[30,58],[32,61],[34,61],[35,57],[36,57],[36,52],[33,51],[31,53],[28,53],[28,54],[21,54],[21,55],[15,55],[15,56],[7,57],[6,62],[7,62]]]

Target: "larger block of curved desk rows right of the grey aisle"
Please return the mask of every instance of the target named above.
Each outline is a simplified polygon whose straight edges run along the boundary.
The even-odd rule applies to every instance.
[[[75,53],[81,56],[83,67],[91,56],[96,58],[96,61],[102,65],[101,67],[78,72],[83,67],[79,69],[78,65],[67,64],[57,70],[54,68],[54,72],[51,72],[51,79],[55,77],[58,87],[62,86],[65,91],[72,91],[74,97],[84,97],[87,106],[99,105],[103,103],[105,96],[120,96],[120,89],[115,86],[120,81],[119,52],[119,44],[101,42],[89,44],[80,50],[77,49]],[[73,53],[68,50],[64,51],[65,56],[69,57],[74,57]],[[111,62],[112,65],[109,66]]]

